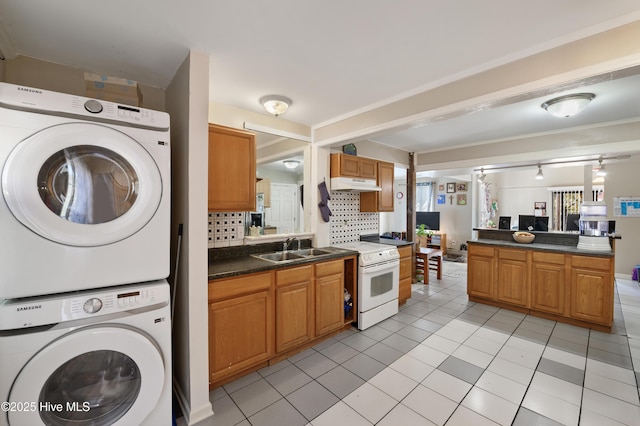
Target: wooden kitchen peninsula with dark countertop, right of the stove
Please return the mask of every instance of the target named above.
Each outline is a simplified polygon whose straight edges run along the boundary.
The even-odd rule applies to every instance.
[[[474,229],[468,241],[469,300],[599,331],[613,323],[615,239],[609,251],[577,248],[578,234]]]

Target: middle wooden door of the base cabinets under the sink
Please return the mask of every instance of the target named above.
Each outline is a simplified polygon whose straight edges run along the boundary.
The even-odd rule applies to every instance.
[[[276,352],[313,339],[313,265],[276,271]]]

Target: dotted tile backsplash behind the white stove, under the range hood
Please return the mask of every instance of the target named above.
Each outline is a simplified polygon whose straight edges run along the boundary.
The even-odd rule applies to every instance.
[[[331,191],[330,244],[359,241],[361,234],[377,234],[379,213],[360,212],[360,193]]]

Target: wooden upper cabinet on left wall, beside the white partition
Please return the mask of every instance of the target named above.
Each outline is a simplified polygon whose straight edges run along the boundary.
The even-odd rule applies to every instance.
[[[255,209],[255,135],[209,124],[209,211]]]

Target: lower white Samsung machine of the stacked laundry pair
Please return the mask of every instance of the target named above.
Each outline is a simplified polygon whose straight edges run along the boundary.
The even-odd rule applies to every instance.
[[[0,302],[0,425],[170,425],[169,284]]]

